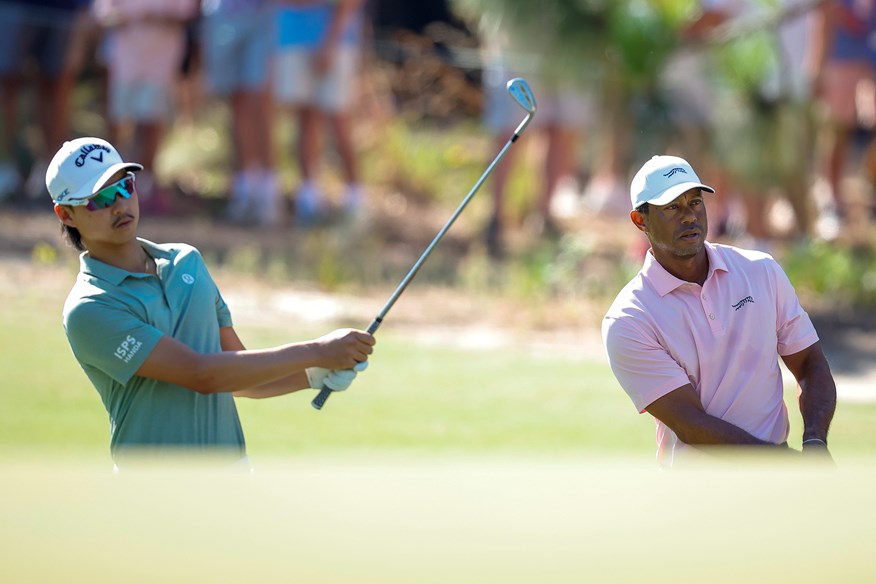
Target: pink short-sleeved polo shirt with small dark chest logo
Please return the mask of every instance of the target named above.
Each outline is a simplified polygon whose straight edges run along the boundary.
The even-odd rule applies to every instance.
[[[768,254],[706,242],[702,287],[649,251],[602,322],[611,369],[639,412],[690,383],[706,412],[776,444],[788,437],[779,355],[818,341],[782,268]],[[684,448],[657,421],[657,458]]]

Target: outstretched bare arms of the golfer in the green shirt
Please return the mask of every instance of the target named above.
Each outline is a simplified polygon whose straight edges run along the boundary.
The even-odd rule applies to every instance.
[[[301,385],[302,379],[297,375],[303,375],[307,367],[349,369],[365,361],[373,351],[374,337],[364,331],[344,329],[313,341],[248,351],[239,348],[243,344],[236,334],[225,330],[222,343],[223,349],[227,343],[236,350],[198,353],[165,335],[137,370],[137,375],[205,394],[241,392],[244,395],[246,390],[260,386],[277,391],[277,386],[286,382]]]

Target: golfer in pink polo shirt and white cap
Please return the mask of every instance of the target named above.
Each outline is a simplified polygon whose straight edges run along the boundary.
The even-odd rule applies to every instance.
[[[664,465],[693,447],[787,448],[781,357],[799,384],[803,452],[827,454],[836,385],[809,316],[778,263],[705,241],[693,168],[654,156],[632,181],[630,219],[651,244],[605,316],[602,336],[621,387],[657,421]]]

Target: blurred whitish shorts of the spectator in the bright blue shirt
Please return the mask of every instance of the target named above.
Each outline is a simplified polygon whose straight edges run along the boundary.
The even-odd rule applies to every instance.
[[[313,52],[302,47],[282,48],[274,61],[274,97],[281,105],[309,105],[326,112],[346,111],[356,91],[359,50],[341,46],[329,70],[313,70]]]

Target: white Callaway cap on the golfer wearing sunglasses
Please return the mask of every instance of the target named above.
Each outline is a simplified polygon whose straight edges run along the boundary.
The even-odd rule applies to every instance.
[[[124,162],[115,147],[100,138],[64,142],[49,163],[46,188],[58,205],[84,205],[120,170],[143,170],[142,164]]]

